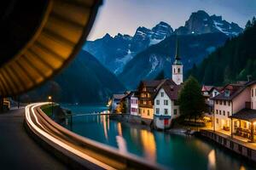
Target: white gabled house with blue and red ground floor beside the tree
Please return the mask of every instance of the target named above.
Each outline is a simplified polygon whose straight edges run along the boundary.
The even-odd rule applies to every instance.
[[[172,120],[180,115],[177,96],[181,85],[164,84],[154,97],[154,126],[158,129],[171,127]]]

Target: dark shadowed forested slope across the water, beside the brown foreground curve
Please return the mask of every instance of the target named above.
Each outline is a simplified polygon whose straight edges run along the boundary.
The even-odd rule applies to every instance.
[[[23,100],[46,100],[66,103],[100,103],[125,90],[117,77],[91,54],[81,50],[78,56],[53,81],[23,96]]]

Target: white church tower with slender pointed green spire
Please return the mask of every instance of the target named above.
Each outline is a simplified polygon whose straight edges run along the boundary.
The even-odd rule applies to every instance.
[[[178,47],[178,40],[176,42],[176,54],[175,60],[172,64],[172,80],[177,85],[183,83],[183,63],[179,56],[179,47]]]

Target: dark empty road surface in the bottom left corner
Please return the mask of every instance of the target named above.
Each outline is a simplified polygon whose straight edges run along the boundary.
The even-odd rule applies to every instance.
[[[0,169],[67,169],[28,136],[24,116],[25,109],[0,114]]]

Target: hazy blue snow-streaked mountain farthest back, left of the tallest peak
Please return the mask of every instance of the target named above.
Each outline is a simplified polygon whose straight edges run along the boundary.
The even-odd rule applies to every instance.
[[[165,22],[160,22],[152,29],[140,26],[133,37],[121,34],[111,37],[106,34],[100,39],[86,42],[84,50],[94,55],[109,71],[119,74],[133,56],[171,36],[172,32],[172,27]]]

